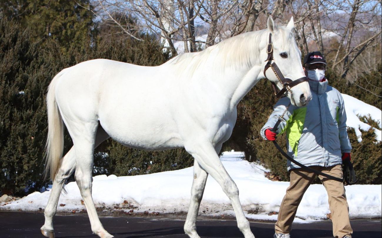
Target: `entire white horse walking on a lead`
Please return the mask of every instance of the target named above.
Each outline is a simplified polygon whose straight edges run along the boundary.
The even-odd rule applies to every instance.
[[[53,187],[42,234],[54,237],[52,219],[58,198],[65,180],[75,170],[92,231],[102,238],[113,237],[100,223],[92,199],[93,151],[112,137],[141,150],[184,147],[194,157],[194,180],[184,226],[189,237],[199,237],[195,222],[210,174],[230,199],[244,237],[254,238],[238,188],[217,154],[231,135],[239,101],[264,78],[269,33],[274,60],[283,75],[292,80],[305,76],[301,52],[291,32],[293,19],[286,27],[276,27],[269,18],[267,25],[267,30],[237,35],[156,67],[94,59],[59,72],[47,94],[46,168],[50,169]],[[282,88],[272,70],[267,70],[267,77]],[[307,82],[291,90],[293,93],[287,96],[293,105],[304,106],[311,99]],[[62,157],[63,123],[73,147]]]

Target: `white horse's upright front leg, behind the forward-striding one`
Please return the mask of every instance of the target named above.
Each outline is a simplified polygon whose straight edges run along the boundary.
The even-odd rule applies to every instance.
[[[222,144],[215,146],[215,151],[218,154]],[[199,206],[202,201],[204,188],[206,187],[208,174],[199,163],[194,160],[194,180],[191,188],[191,199],[188,207],[187,218],[184,226],[185,233],[192,238],[199,238],[196,232],[196,219]]]

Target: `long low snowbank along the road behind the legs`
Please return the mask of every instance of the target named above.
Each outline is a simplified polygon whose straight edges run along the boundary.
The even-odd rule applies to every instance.
[[[267,170],[256,163],[242,159],[241,152],[224,152],[222,163],[240,191],[240,201],[246,216],[252,219],[276,220],[279,205],[285,195],[288,182],[274,182],[265,178]],[[124,200],[137,206],[134,212],[187,212],[193,168],[156,174],[123,176],[99,175],[94,177],[93,198],[97,207],[113,210]],[[59,212],[84,209],[75,182],[66,185],[67,194],[60,196]],[[381,185],[352,185],[346,187],[351,218],[381,217]],[[50,191],[34,192],[22,199],[1,204],[0,209],[38,211],[47,204]],[[205,212],[204,212],[205,211]],[[257,214],[249,214],[257,213]],[[251,212],[252,211],[252,212]],[[257,212],[253,212],[257,211]],[[126,211],[128,212],[128,211]],[[296,222],[325,219],[329,212],[327,193],[320,184],[311,185],[298,208]],[[212,177],[208,177],[201,208],[201,215],[233,215],[230,201]]]

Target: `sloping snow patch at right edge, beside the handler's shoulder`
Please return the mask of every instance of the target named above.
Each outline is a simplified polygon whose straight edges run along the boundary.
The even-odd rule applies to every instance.
[[[343,100],[345,101],[345,110],[346,110],[346,116],[347,116],[346,125],[348,127],[354,128],[356,135],[358,136],[358,142],[362,141],[361,131],[359,129],[369,130],[371,127],[370,125],[364,122],[361,122],[358,116],[362,117],[362,116],[370,115],[373,120],[378,122],[379,128],[382,128],[382,111],[380,109],[343,93],[342,93],[342,97],[343,97]],[[381,130],[375,128],[375,133],[376,133],[376,139],[381,141],[382,140]]]

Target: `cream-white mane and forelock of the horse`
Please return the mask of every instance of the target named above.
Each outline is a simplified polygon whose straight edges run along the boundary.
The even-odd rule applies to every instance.
[[[265,60],[260,59],[259,56],[260,50],[268,43],[268,35],[269,31],[267,29],[246,32],[223,40],[200,52],[183,53],[175,56],[165,64],[172,66],[175,70],[178,69],[179,72],[183,74],[186,73],[190,75],[192,75],[197,68],[203,66],[207,60],[212,60],[214,64],[213,68],[220,72],[227,68],[250,68],[258,64],[259,61]],[[288,40],[294,38],[291,31],[283,26],[278,26],[275,29],[272,40],[278,39],[279,37],[280,39],[284,39],[281,40],[280,48],[284,48]]]

